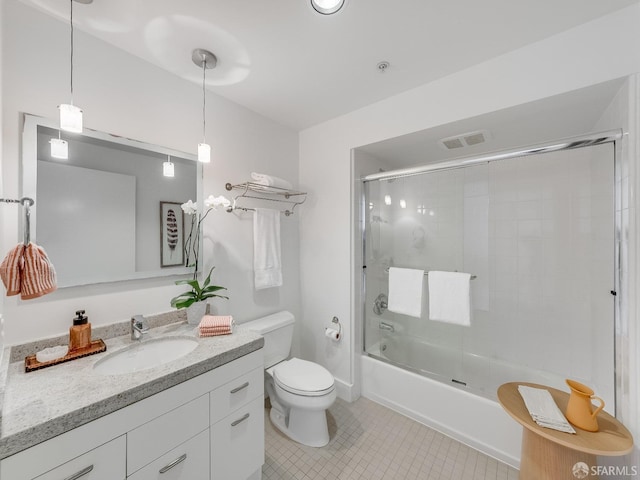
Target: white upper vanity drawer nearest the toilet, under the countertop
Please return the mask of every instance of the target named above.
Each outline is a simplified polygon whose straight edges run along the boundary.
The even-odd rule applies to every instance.
[[[211,392],[211,425],[264,396],[264,369],[256,368]]]

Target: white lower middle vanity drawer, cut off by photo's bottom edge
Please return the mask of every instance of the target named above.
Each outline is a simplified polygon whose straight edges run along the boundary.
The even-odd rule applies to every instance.
[[[154,460],[128,480],[209,480],[209,429]]]

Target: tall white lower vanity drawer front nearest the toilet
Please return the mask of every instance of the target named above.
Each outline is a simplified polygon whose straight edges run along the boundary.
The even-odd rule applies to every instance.
[[[262,395],[211,427],[211,480],[243,480],[264,463]]]

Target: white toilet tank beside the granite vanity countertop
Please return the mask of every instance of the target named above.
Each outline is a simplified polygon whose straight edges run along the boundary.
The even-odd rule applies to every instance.
[[[242,324],[264,337],[264,368],[272,367],[289,356],[294,321],[291,312],[282,311]]]

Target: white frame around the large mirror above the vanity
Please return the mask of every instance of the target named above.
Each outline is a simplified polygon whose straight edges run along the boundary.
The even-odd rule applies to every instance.
[[[37,215],[38,215],[38,199],[36,198],[37,192],[37,178],[38,178],[38,127],[48,127],[55,130],[59,129],[58,122],[44,117],[39,117],[29,113],[22,114],[22,161],[21,161],[21,183],[22,183],[22,197],[30,197],[35,200],[34,205],[31,207],[31,238],[37,240]],[[66,133],[65,133],[66,134]],[[90,138],[96,138],[106,142],[117,143],[120,145],[126,145],[133,148],[148,150],[151,152],[159,153],[162,155],[171,155],[173,157],[179,157],[187,160],[192,160],[196,163],[196,198],[194,199],[198,205],[202,205],[202,180],[203,180],[203,166],[198,162],[196,155],[174,150],[172,148],[163,147],[160,145],[153,145],[150,143],[134,140],[127,137],[121,137],[110,133],[100,132],[84,127],[81,134],[69,134],[69,135],[83,135]],[[20,217],[19,231],[24,231],[24,218]],[[202,232],[201,236],[202,238]],[[200,271],[202,267],[202,242],[199,245],[198,265],[197,271]],[[161,268],[158,265],[157,270],[148,270],[143,272],[134,272],[130,275],[123,276],[122,278],[113,280],[98,280],[95,282],[87,282],[77,285],[60,285],[59,288],[73,288],[81,287],[85,285],[96,285],[102,283],[118,283],[129,280],[144,280],[160,277],[172,277],[172,276],[184,276],[193,275],[193,267],[171,267]]]

